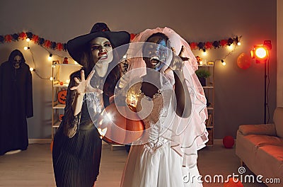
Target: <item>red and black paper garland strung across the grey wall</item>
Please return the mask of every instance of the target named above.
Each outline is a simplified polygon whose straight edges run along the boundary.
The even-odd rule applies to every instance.
[[[131,40],[136,36],[137,34],[131,33]],[[46,47],[47,49],[51,50],[59,50],[59,51],[67,51],[67,43],[62,42],[52,42],[50,40],[45,40],[45,38],[41,38],[38,35],[34,35],[30,32],[21,32],[21,33],[14,33],[10,35],[0,35],[0,43],[4,42],[16,42],[18,40],[25,40],[29,38],[31,41],[33,41],[35,44],[40,45],[42,47]],[[204,52],[206,50],[210,50],[212,48],[216,49],[219,47],[226,47],[230,46],[231,44],[237,45],[238,42],[240,42],[241,36],[236,36],[235,38],[228,38],[228,39],[222,39],[222,40],[215,40],[213,42],[188,42],[190,45],[191,50],[203,50]]]

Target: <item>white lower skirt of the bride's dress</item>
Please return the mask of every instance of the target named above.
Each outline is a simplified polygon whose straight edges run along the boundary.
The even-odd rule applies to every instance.
[[[197,166],[183,167],[183,158],[167,143],[150,152],[144,145],[133,145],[122,175],[121,187],[202,186]],[[192,176],[195,176],[192,180]]]

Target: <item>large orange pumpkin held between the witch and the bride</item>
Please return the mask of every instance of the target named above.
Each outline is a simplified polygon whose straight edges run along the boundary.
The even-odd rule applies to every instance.
[[[127,145],[139,139],[144,132],[144,123],[131,106],[111,103],[100,117],[98,132],[103,133],[101,137],[105,142]]]

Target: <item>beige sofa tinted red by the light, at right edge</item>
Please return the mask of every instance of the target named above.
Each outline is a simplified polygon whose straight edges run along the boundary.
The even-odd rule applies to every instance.
[[[283,108],[277,107],[273,123],[240,125],[236,137],[236,155],[256,175],[279,178],[283,186]]]

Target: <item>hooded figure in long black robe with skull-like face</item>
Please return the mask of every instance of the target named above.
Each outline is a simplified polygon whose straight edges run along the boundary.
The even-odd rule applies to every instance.
[[[0,66],[0,155],[28,148],[26,118],[33,117],[30,67],[19,50]]]

